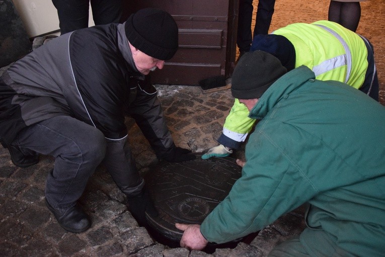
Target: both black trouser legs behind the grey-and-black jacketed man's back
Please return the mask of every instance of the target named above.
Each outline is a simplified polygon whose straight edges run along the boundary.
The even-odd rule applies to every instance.
[[[122,0],[52,0],[59,16],[60,33],[88,27],[91,4],[95,25],[119,23]]]

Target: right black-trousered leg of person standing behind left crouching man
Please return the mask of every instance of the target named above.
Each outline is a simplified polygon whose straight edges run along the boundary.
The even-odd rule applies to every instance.
[[[122,16],[122,0],[91,0],[95,25],[119,23]]]

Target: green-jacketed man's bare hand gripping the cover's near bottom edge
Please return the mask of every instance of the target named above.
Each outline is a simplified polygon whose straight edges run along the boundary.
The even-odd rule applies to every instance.
[[[206,247],[208,241],[200,232],[200,225],[175,223],[175,226],[176,228],[184,231],[180,241],[181,247],[191,250],[202,250]]]

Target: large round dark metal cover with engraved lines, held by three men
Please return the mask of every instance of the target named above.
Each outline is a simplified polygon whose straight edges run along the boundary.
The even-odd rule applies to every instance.
[[[175,223],[201,224],[241,177],[242,168],[230,157],[201,158],[181,163],[161,161],[144,180],[159,212],[146,214],[149,225],[168,239],[179,241]]]

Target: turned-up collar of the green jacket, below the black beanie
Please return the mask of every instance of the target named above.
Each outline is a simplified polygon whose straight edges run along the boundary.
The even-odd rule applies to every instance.
[[[314,72],[302,65],[293,69],[278,78],[267,90],[257,104],[250,111],[249,117],[253,119],[263,119],[268,112],[281,100],[301,87],[309,79],[315,79]]]

